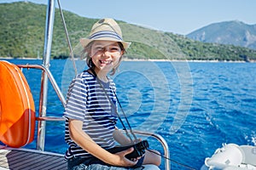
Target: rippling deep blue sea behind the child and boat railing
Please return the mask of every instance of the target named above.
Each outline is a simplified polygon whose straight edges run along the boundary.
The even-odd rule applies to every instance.
[[[9,61],[42,64],[40,59]],[[76,65],[79,72],[86,68],[84,61]],[[72,62],[51,60],[49,70],[66,96],[75,75]],[[23,72],[38,112],[41,71]],[[172,169],[188,169],[177,162],[200,169],[224,143],[256,145],[256,63],[123,61],[112,78],[131,127],[166,139]],[[47,116],[62,116],[63,106],[50,84],[48,95]],[[159,142],[148,141],[163,154]],[[64,122],[47,122],[45,150],[65,153]]]

